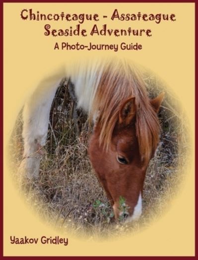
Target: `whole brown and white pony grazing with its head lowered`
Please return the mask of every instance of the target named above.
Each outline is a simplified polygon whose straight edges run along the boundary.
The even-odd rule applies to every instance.
[[[94,123],[88,153],[115,218],[123,214],[122,196],[124,217],[138,219],[146,169],[159,141],[157,112],[164,93],[150,100],[141,73],[126,61],[77,65],[40,83],[23,109],[24,157],[19,170],[30,179],[39,174],[50,108],[63,76],[72,83],[77,106]]]

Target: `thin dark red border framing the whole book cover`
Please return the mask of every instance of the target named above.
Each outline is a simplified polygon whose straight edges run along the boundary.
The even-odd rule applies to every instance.
[[[0,23],[1,23],[1,32],[3,32],[3,3],[4,2],[13,2],[13,1],[7,1],[7,0],[4,0],[4,1],[1,1],[0,3]],[[28,2],[28,1],[25,1],[25,0],[21,0],[19,2]],[[48,0],[48,1],[39,1],[39,0],[33,0],[33,1],[30,1],[32,3],[34,2],[55,2],[55,1],[52,1],[52,0]],[[184,3],[184,2],[194,2],[195,3],[195,18],[196,18],[196,21],[195,21],[195,28],[198,28],[198,17],[196,17],[196,13],[198,14],[198,4],[196,2],[196,0],[162,0],[162,1],[159,1],[159,0],[150,0],[150,1],[147,1],[147,0],[84,0],[84,1],[78,1],[78,0],[73,0],[73,1],[64,1],[64,0],[58,0],[57,2],[139,2],[139,3],[143,3],[143,2],[158,2],[158,3],[167,3],[167,2],[173,2],[173,3]],[[185,29],[185,28],[184,28]],[[0,73],[1,73],[1,85],[0,85],[0,139],[1,139],[1,149],[0,149],[0,166],[1,166],[1,199],[0,199],[0,206],[1,206],[1,209],[2,209],[2,213],[0,214],[0,222],[1,222],[1,236],[0,236],[0,259],[3,259],[3,258],[6,258],[6,259],[14,259],[14,258],[27,258],[27,257],[3,257],[3,33],[1,34],[2,35],[2,39],[0,41],[0,47],[1,47],[1,58],[2,58],[2,62],[1,62],[1,69],[0,69]],[[196,30],[195,30],[195,47],[196,47],[196,43],[197,43],[197,35],[196,35]],[[189,46],[189,48],[191,48],[191,46]],[[196,61],[198,61],[198,52],[195,50],[195,75],[197,74],[198,75],[198,66],[196,66]],[[185,62],[185,61],[183,61]],[[11,76],[11,75],[10,75]],[[195,78],[196,80],[196,78]],[[197,87],[197,80],[196,80],[196,84],[195,86]],[[198,115],[198,105],[196,105],[196,99],[198,98],[198,91],[197,91],[197,88],[195,87],[195,133],[197,132],[197,129],[198,129],[198,121],[197,121],[197,115]],[[188,87],[187,87],[187,91],[188,91]],[[195,135],[195,166],[196,166],[196,170],[197,170],[197,160],[198,160],[198,153],[197,153],[197,147],[198,147],[198,138],[196,137]],[[196,171],[197,172],[197,171]],[[196,178],[196,175],[195,175],[195,191],[196,191],[196,186],[197,186],[197,182],[198,182],[198,178]],[[198,195],[198,192],[196,191],[196,200],[197,200],[197,195]],[[186,201],[184,202],[186,203]],[[196,213],[197,213],[197,208],[196,208]],[[188,223],[184,223],[184,225],[188,225]],[[197,242],[197,225],[196,225],[196,242]],[[171,236],[171,234],[170,234]],[[181,227],[181,236],[183,236],[182,234],[182,227]],[[196,243],[197,244],[197,243]],[[166,246],[166,245],[164,245]],[[195,245],[196,246],[196,245]],[[195,257],[197,257],[197,247],[196,248],[196,253],[195,253]],[[142,251],[143,251],[143,245],[142,245]],[[175,259],[175,258],[179,258],[179,259],[191,259],[191,258],[195,258],[195,257],[154,257],[155,259],[156,258],[163,258],[163,259]],[[28,257],[28,258],[31,258],[31,259],[42,259],[42,258],[58,258],[58,257]],[[146,259],[146,258],[153,258],[153,257],[59,257],[59,258],[66,258],[66,259],[72,259],[72,260],[75,260],[75,259],[82,259],[82,260],[85,260],[87,258],[95,258],[95,259],[106,259],[106,258],[116,258],[116,259],[123,259],[123,258],[127,258],[127,259],[134,259],[134,258],[138,258],[138,259]]]

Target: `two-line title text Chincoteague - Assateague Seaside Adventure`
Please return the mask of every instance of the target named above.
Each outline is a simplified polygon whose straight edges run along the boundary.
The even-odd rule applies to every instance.
[[[119,9],[113,9],[108,12],[104,11],[104,14],[99,15],[96,12],[69,13],[69,10],[57,13],[44,13],[30,8],[22,9],[20,18],[24,22],[40,22],[44,28],[44,37],[51,36],[55,39],[60,37],[62,39],[63,37],[86,38],[87,36],[99,36],[102,38],[126,37],[126,39],[130,41],[133,41],[134,38],[136,41],[137,37],[149,38],[153,36],[154,33],[151,29],[153,24],[160,25],[165,22],[176,21],[176,15],[174,13],[143,13],[141,11],[136,13],[122,13]],[[138,22],[140,21],[145,22],[145,28],[139,28]],[[63,26],[60,26],[60,22],[62,22]],[[88,24],[89,27],[87,26]],[[115,26],[113,26],[113,24],[115,24]],[[163,34],[168,33],[167,30],[161,32]]]

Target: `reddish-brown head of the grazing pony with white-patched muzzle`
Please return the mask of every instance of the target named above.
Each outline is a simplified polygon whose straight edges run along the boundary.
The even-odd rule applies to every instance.
[[[153,120],[148,124],[141,119],[141,113],[144,112],[135,97],[121,101],[117,113],[112,114],[117,118],[108,148],[105,148],[104,143],[100,141],[103,127],[101,118],[94,127],[89,144],[89,156],[113,206],[116,219],[120,215],[123,216],[123,211],[128,221],[141,215],[141,194],[145,173],[159,140],[157,112],[163,96],[162,93],[155,99],[147,98],[147,109],[150,110],[148,120],[150,114]],[[147,134],[145,131],[150,133]],[[146,136],[148,140],[145,141]],[[144,145],[149,147],[142,147]]]

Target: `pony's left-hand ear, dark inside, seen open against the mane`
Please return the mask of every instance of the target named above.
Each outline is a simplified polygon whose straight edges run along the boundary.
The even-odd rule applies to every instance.
[[[119,111],[119,124],[129,125],[135,116],[135,97],[128,98],[123,102]]]

